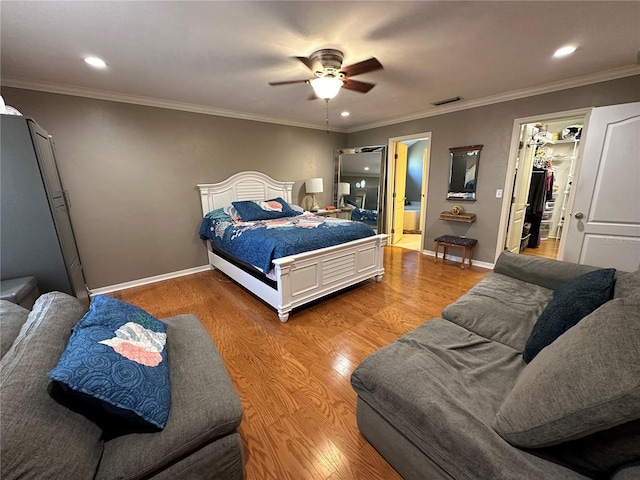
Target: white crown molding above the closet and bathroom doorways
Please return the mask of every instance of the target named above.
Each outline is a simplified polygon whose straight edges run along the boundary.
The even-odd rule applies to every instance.
[[[518,100],[520,98],[533,97],[535,95],[542,95],[545,93],[557,92],[559,90],[566,90],[569,88],[582,87],[584,85],[591,85],[593,83],[606,82],[609,80],[616,80],[618,78],[631,77],[633,75],[640,75],[640,65],[631,65],[628,67],[616,68],[614,70],[607,70],[604,72],[593,73],[584,75],[582,77],[574,77],[568,80],[562,80],[559,82],[548,83],[537,87],[524,88],[521,90],[514,90],[512,92],[501,93],[498,95],[492,95],[489,97],[478,98],[476,100],[463,100],[456,102],[455,104],[443,105],[431,110],[414,113],[411,115],[405,115],[402,117],[396,117],[392,119],[382,120],[380,122],[372,122],[357,127],[349,128],[347,133],[360,132],[363,130],[370,130],[372,128],[386,127],[389,125],[395,125],[398,123],[409,122],[412,120],[419,120],[427,117],[435,117],[438,115],[444,115],[445,113],[458,112],[461,110],[468,110],[470,108],[483,107],[486,105],[493,105],[495,103],[508,102],[509,100]]]

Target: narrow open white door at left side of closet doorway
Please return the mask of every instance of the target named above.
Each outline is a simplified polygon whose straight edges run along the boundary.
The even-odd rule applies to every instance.
[[[535,146],[527,145],[527,139],[533,135],[533,125],[525,125],[524,133],[520,137],[522,148],[518,152],[518,163],[516,167],[516,180],[513,185],[513,196],[511,197],[511,216],[507,233],[506,248],[510,252],[520,253],[520,241],[522,239],[522,227],[527,214],[527,200],[529,199],[529,186],[531,183],[531,172],[533,171],[533,157]]]

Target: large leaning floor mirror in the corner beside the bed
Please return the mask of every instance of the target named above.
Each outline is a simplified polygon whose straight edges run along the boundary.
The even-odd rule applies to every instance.
[[[382,230],[386,147],[341,148],[335,152],[334,198],[341,218]]]

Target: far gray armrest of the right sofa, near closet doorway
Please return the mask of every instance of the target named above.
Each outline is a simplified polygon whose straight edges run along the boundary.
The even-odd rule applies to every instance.
[[[518,255],[509,251],[500,254],[493,269],[495,273],[534,283],[551,290],[594,270],[599,270],[599,267],[531,255]]]

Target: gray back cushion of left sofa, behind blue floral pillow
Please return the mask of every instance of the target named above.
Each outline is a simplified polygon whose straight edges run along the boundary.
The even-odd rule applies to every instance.
[[[0,455],[3,480],[92,478],[100,428],[54,401],[47,372],[86,309],[60,292],[42,295],[14,346],[0,361]]]

